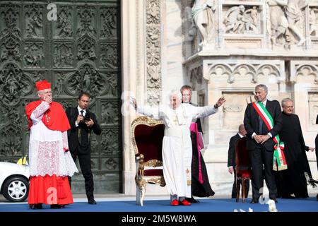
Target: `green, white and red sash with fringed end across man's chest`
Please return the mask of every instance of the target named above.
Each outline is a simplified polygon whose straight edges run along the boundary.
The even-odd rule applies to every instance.
[[[269,131],[273,129],[273,118],[271,117],[271,114],[269,114],[269,111],[267,111],[266,107],[264,107],[263,103],[253,102],[252,105],[257,111],[257,114],[259,114],[261,119],[263,119],[267,129]],[[280,171],[283,169],[287,169],[287,163],[283,152],[284,143],[283,141],[280,141],[278,134],[273,138],[273,141],[275,142],[273,152],[273,170]]]

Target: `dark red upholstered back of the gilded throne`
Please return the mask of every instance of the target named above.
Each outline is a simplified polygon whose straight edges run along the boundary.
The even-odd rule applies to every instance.
[[[164,124],[154,126],[147,124],[139,124],[134,129],[135,141],[138,149],[138,154],[143,154],[144,162],[149,160],[163,161],[163,135]]]

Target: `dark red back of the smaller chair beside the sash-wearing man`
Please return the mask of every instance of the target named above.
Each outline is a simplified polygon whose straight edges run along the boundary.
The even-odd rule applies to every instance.
[[[246,148],[246,141],[247,137],[242,137],[235,143],[235,162],[238,179],[250,179],[252,177],[252,169],[249,161],[249,151]]]

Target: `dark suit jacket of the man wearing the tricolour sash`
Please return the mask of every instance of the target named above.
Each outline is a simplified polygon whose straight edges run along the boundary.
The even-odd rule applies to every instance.
[[[254,109],[252,104],[247,105],[244,117],[244,126],[247,131],[247,150],[254,150],[260,145],[254,139],[252,139],[253,133],[256,133],[257,135],[266,135],[267,133],[271,133],[272,138],[269,138],[269,140],[264,143],[264,147],[266,150],[273,151],[273,146],[275,145],[273,137],[276,136],[279,131],[281,131],[283,125],[281,117],[281,105],[279,105],[277,100],[267,100],[265,107],[273,118],[274,126],[273,129],[269,131],[269,129],[266,127],[266,124],[263,122],[262,132],[259,134],[259,114],[257,114],[257,111]]]

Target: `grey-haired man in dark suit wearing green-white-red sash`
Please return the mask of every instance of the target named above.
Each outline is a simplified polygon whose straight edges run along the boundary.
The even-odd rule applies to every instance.
[[[266,85],[255,87],[255,99],[259,105],[263,105],[273,118],[273,128],[268,129],[252,103],[247,105],[244,117],[244,126],[247,131],[247,150],[252,164],[252,201],[258,203],[263,179],[262,170],[269,189],[269,198],[277,203],[277,187],[273,174],[273,150],[275,142],[273,138],[281,131],[282,117],[281,105],[276,100],[267,100],[268,88]]]

